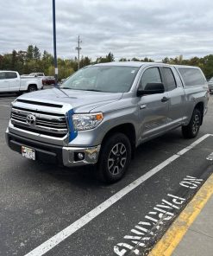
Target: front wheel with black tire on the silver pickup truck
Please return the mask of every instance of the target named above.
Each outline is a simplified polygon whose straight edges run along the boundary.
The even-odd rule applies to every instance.
[[[114,133],[102,145],[97,174],[103,182],[114,183],[124,176],[131,161],[131,144],[123,133]]]

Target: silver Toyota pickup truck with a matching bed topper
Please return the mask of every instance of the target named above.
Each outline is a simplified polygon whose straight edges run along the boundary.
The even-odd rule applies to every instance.
[[[9,147],[65,166],[96,164],[105,182],[122,178],[135,148],[179,126],[195,138],[210,97],[198,67],[110,62],[79,70],[60,88],[12,103]]]

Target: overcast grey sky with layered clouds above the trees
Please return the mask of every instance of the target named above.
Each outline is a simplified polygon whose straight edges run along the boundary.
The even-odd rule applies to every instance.
[[[55,0],[57,53],[93,60],[213,54],[212,0]],[[0,0],[0,54],[37,45],[53,53],[52,0]]]

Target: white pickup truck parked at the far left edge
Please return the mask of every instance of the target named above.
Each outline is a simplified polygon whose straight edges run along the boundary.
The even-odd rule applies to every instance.
[[[33,92],[42,87],[40,78],[21,77],[16,71],[0,70],[0,93]]]

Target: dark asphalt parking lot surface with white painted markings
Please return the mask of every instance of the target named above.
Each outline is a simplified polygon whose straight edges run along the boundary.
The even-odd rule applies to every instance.
[[[178,129],[142,144],[113,185],[92,167],[60,168],[9,150],[15,98],[0,95],[0,255],[146,254],[213,172],[213,95],[197,138]]]

